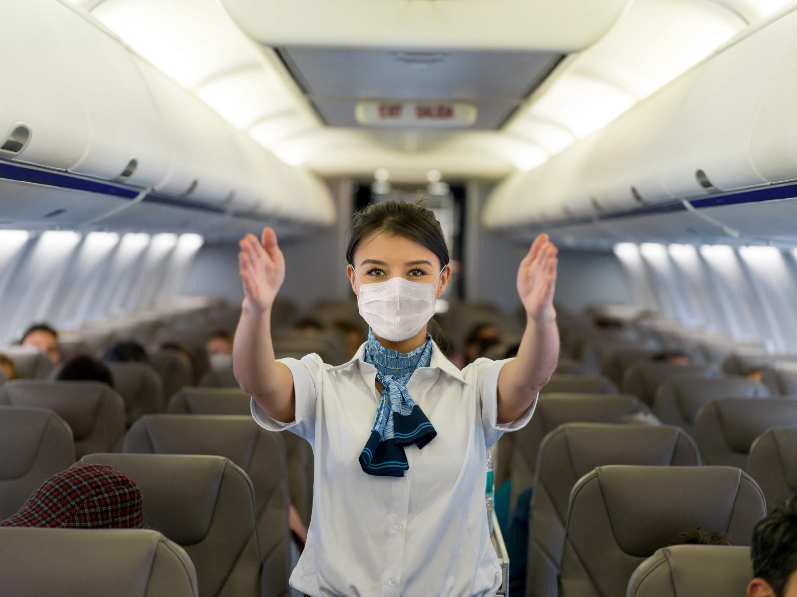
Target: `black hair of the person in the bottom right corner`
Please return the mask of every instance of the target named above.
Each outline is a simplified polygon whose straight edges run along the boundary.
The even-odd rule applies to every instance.
[[[759,521],[752,532],[752,570],[783,597],[783,591],[797,571],[797,496],[775,508]]]

